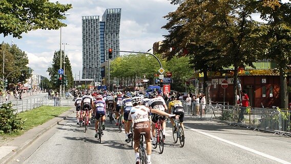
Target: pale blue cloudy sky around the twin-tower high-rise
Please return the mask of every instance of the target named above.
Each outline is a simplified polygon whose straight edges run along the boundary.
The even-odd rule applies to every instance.
[[[56,1],[50,1],[56,2]],[[82,30],[81,16],[100,15],[109,8],[121,8],[120,50],[147,52],[153,43],[163,40],[168,34],[161,29],[167,24],[163,16],[175,11],[177,5],[167,0],[58,0],[60,4],[72,4],[62,20],[67,27],[61,28],[61,43],[65,45],[65,53],[70,59],[73,76],[82,71]],[[35,30],[22,34],[23,38],[0,36],[1,42],[17,45],[25,51],[29,59],[29,67],[35,74],[49,78],[47,69],[52,66],[53,55],[59,50],[60,30]],[[64,45],[61,47],[64,50]],[[122,54],[122,53],[121,53]],[[66,68],[65,68],[66,69]],[[66,72],[66,70],[65,70]],[[57,72],[56,72],[57,73]]]

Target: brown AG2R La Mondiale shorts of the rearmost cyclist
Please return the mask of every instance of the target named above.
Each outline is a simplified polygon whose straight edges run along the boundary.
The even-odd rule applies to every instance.
[[[146,133],[146,135],[144,135],[146,140],[151,139],[151,125],[150,125],[149,121],[135,123],[135,124],[133,124],[133,129],[134,129],[133,140],[135,142],[139,141],[139,135],[141,132]]]

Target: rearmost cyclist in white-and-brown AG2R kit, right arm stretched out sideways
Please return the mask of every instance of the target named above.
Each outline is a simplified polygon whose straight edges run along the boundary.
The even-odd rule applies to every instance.
[[[165,113],[159,109],[149,109],[148,107],[141,105],[140,97],[132,98],[133,107],[130,110],[130,115],[128,118],[128,128],[130,128],[131,121],[133,121],[133,130],[134,130],[134,152],[136,163],[139,163],[139,135],[141,132],[145,132],[146,144],[147,144],[147,158],[148,163],[151,163],[151,153],[152,153],[152,144],[151,144],[151,125],[148,113],[155,113],[158,115],[174,117],[174,114]]]

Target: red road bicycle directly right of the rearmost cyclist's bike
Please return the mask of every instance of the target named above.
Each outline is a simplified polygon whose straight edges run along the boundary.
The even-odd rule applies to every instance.
[[[164,148],[164,139],[163,139],[163,129],[162,129],[162,122],[160,120],[162,116],[159,116],[158,118],[158,121],[156,122],[156,125],[155,125],[155,129],[156,129],[156,135],[155,135],[155,138],[156,138],[156,143],[154,146],[154,149],[156,149],[159,145],[159,150],[160,150],[160,154],[163,153],[163,148]]]

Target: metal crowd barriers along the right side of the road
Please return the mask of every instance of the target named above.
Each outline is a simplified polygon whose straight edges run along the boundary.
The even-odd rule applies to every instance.
[[[192,112],[195,117],[227,124],[240,125],[254,130],[264,130],[274,134],[291,136],[291,111],[267,108],[246,108],[230,105],[206,105],[205,114],[197,115],[194,103],[183,103],[185,114]],[[199,107],[201,109],[201,106]],[[201,113],[200,113],[201,114]]]

